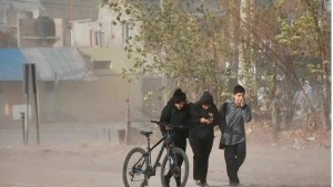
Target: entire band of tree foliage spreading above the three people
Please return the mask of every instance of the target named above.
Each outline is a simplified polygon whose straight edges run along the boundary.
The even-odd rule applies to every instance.
[[[239,10],[239,1],[219,1],[226,7],[223,15],[203,4],[193,13],[185,1],[160,2],[163,4],[142,0],[111,4],[118,13],[113,24],[131,24],[138,30],[127,39],[124,49],[134,64],[123,70],[124,75],[162,73],[194,94],[209,89],[220,101],[230,97],[231,80],[245,80],[255,97],[261,77],[274,90],[278,73],[295,84],[291,87],[300,86],[301,77],[330,75],[330,17],[322,10],[322,0],[278,0],[255,11],[249,7],[246,20],[240,20],[243,10]],[[233,10],[233,6],[238,8]],[[231,69],[224,63],[240,61],[240,45],[244,66],[239,74],[238,62],[232,62]]]

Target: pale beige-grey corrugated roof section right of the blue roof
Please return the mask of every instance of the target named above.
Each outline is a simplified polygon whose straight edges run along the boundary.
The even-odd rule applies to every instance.
[[[92,72],[75,48],[22,49],[27,61],[36,63],[37,72],[43,81],[92,80]]]

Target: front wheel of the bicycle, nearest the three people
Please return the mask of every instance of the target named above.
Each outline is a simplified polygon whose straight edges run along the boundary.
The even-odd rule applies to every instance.
[[[185,152],[173,147],[161,166],[162,187],[184,187],[189,178],[189,158]]]

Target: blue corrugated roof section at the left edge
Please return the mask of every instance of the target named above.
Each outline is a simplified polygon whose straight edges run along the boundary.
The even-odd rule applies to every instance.
[[[0,80],[23,80],[23,64],[28,63],[19,49],[0,50]]]

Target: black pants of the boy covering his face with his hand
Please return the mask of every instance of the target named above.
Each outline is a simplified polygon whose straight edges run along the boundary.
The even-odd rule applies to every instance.
[[[232,183],[240,183],[239,169],[245,160],[246,143],[242,142],[235,145],[226,145],[224,149],[224,159],[226,164],[226,173],[229,180]]]

